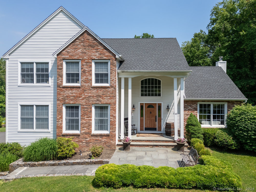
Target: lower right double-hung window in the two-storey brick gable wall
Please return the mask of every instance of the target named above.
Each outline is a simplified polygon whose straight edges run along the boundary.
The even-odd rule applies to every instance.
[[[92,105],[92,133],[110,133],[110,105]]]

